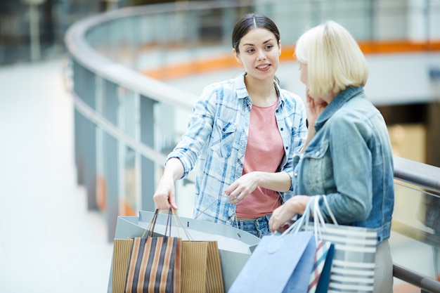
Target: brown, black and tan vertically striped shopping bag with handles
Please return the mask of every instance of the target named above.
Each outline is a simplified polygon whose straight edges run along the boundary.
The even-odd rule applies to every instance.
[[[153,237],[157,213],[158,210],[152,219],[148,236],[133,239],[124,291],[126,293],[181,292],[181,238]],[[170,210],[167,223],[170,230],[171,216]]]

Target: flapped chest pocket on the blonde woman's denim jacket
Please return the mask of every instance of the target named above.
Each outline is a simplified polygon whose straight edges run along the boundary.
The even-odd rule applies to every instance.
[[[308,148],[304,152],[304,184],[309,194],[325,194],[333,178],[333,166],[328,141]]]

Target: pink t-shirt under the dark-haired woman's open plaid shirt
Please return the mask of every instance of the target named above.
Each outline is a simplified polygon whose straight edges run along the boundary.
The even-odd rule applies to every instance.
[[[277,105],[278,101],[269,107],[252,105],[243,175],[252,171],[275,173],[283,159],[283,140],[275,117]],[[237,216],[257,219],[272,214],[273,209],[280,205],[280,195],[276,191],[257,187],[237,205]]]

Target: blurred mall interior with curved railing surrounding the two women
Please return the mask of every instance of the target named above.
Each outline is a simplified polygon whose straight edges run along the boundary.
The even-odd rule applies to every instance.
[[[295,39],[321,20],[345,25],[367,54],[365,91],[394,155],[440,167],[440,0],[1,0],[1,292],[107,291],[117,216],[154,209],[190,105],[240,72],[230,34],[250,11],[276,21],[277,75],[300,96]],[[435,280],[426,218],[439,190],[423,187],[396,181],[392,253]],[[177,184],[183,216],[192,188]],[[394,292],[420,289],[395,279]]]

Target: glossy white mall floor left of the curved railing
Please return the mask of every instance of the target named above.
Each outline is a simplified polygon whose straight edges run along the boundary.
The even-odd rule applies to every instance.
[[[62,58],[0,67],[0,292],[105,292],[105,221],[76,184]]]

